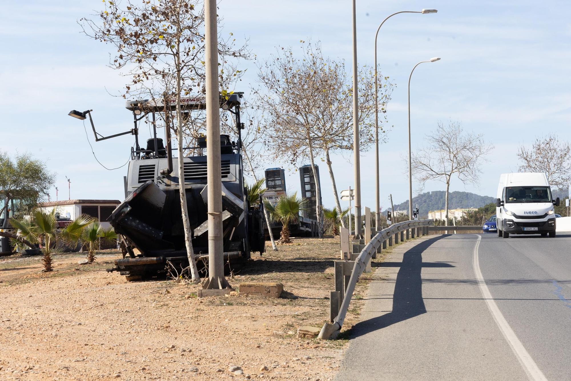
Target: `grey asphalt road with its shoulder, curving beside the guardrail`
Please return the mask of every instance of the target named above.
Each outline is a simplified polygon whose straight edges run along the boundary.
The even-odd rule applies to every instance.
[[[405,243],[377,268],[336,379],[571,380],[570,248],[561,234]]]

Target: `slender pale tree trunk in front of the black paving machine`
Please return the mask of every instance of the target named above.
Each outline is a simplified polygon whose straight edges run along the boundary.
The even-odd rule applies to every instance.
[[[184,189],[184,150],[183,150],[183,123],[182,112],[180,107],[180,44],[176,46],[176,124],[178,128],[178,164],[179,164],[179,195],[180,195],[180,209],[182,214],[182,224],[184,228],[184,244],[186,245],[186,253],[188,257],[188,266],[190,267],[190,274],[193,283],[200,281],[198,268],[194,259],[194,248],[192,248],[192,232],[190,231],[190,220],[188,219],[188,209],[186,203],[186,190]],[[169,128],[165,126],[165,128]],[[170,142],[166,142],[170,144]]]

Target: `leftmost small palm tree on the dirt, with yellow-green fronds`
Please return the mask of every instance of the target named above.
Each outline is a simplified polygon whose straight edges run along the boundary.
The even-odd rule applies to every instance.
[[[79,237],[81,230],[88,225],[91,220],[90,216],[81,215],[78,219],[72,221],[65,229],[58,231],[54,209],[51,212],[43,212],[41,210],[34,211],[31,216],[11,219],[10,224],[16,229],[17,236],[23,237],[23,239],[29,243],[39,244],[43,254],[43,271],[49,272],[53,271],[51,266],[53,262],[52,254],[55,251],[55,242],[57,239],[61,237],[64,241],[71,241],[75,239],[75,237]],[[29,246],[17,240],[14,240],[13,244],[20,249]]]

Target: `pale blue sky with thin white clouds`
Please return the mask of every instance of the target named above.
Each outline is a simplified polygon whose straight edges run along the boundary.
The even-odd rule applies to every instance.
[[[59,200],[123,199],[123,176],[132,136],[94,142],[86,124],[67,116],[71,109],[93,109],[98,132],[131,129],[132,115],[114,94],[126,82],[106,65],[112,47],[81,33],[77,21],[102,8],[94,1],[8,2],[0,14],[0,150],[29,152],[57,173]],[[365,1],[357,0],[357,59],[372,65],[375,31],[389,14],[434,8],[436,14],[398,14],[379,33],[381,72],[396,88],[388,104],[387,142],[380,146],[381,207],[388,195],[395,204],[408,199],[407,82],[413,66],[423,63],[411,81],[412,148],[439,121],[458,121],[468,132],[494,145],[481,166],[476,185],[453,179],[451,190],[494,196],[500,173],[517,171],[517,148],[536,137],[556,133],[571,140],[571,2],[550,1]],[[324,55],[344,59],[351,70],[351,2],[219,2],[223,33],[248,39],[252,53],[265,59],[276,46],[298,47],[320,41]],[[256,87],[256,66],[246,62],[236,91]],[[146,140],[148,132],[141,131]],[[363,206],[375,207],[374,152],[361,157]],[[351,154],[333,156],[337,189],[354,188]],[[286,161],[282,166],[286,166]],[[268,166],[279,166],[272,162]],[[322,168],[321,168],[322,167]],[[299,174],[288,169],[288,191],[299,191]],[[320,166],[325,207],[333,207],[331,180]],[[260,173],[261,174],[261,173]],[[70,183],[67,182],[70,178]],[[420,189],[414,184],[415,193]],[[427,190],[444,190],[433,181]],[[55,200],[55,188],[51,200]],[[344,201],[342,202],[342,206]]]

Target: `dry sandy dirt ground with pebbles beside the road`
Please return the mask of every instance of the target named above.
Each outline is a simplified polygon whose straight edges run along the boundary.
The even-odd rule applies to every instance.
[[[270,247],[229,279],[233,287],[282,282],[279,299],[198,299],[200,285],[128,282],[104,271],[118,257],[103,251],[96,263],[78,265],[81,253],[57,255],[51,273],[41,272],[39,257],[0,258],[0,379],[328,380],[336,374],[347,335],[322,341],[295,332],[328,319],[339,237],[294,239],[278,252]],[[359,281],[344,330],[358,321],[370,278]]]

